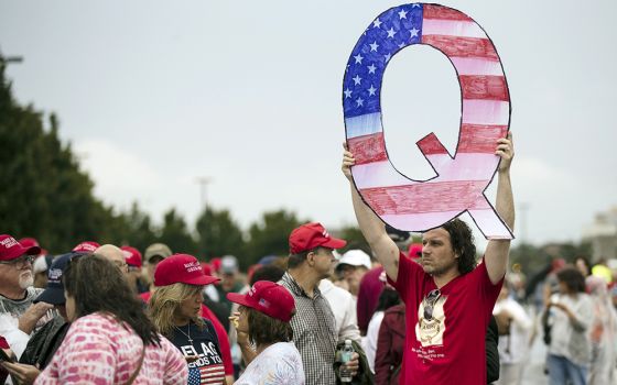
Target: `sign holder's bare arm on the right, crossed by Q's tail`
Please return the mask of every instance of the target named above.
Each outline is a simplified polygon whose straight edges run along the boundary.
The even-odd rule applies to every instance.
[[[512,133],[507,139],[497,142],[496,155],[501,157],[499,170],[497,172],[497,213],[510,228],[515,230],[515,199],[512,197],[512,185],[510,183],[510,165],[515,156],[512,145]],[[498,283],[508,268],[508,255],[510,253],[510,240],[490,240],[486,246],[485,263],[488,276],[492,284]]]

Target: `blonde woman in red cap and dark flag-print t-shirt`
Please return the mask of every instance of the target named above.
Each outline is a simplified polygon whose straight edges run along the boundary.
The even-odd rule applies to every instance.
[[[188,385],[227,384],[218,336],[201,317],[204,286],[218,278],[204,274],[192,255],[174,254],[156,265],[150,315],[161,334],[180,349],[188,362]]]

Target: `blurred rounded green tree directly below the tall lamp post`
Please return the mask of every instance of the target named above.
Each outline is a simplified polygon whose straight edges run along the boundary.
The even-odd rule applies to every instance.
[[[240,257],[245,251],[242,230],[231,218],[229,210],[206,208],[197,219],[195,230],[201,256],[208,260],[231,254]]]

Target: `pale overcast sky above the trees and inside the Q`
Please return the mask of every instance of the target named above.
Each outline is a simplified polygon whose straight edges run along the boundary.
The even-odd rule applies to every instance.
[[[158,221],[175,207],[193,222],[196,179],[210,177],[208,204],[243,227],[282,207],[336,228],[355,223],[339,170],[345,65],[398,4],[0,0],[0,50],[24,57],[7,72],[14,95],[57,113],[107,204],[137,200]],[[617,2],[443,4],[474,18],[504,64],[517,237],[580,241],[617,204]],[[412,46],[392,58],[381,106],[397,168],[433,175],[415,142],[435,132],[453,153],[459,103],[441,53]]]

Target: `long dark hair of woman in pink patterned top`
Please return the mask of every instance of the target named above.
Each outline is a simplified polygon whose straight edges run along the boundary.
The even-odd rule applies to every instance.
[[[143,304],[109,258],[97,254],[76,255],[66,265],[62,279],[66,294],[75,298],[75,317],[108,314],[129,324],[143,344],[160,344],[160,337],[143,311]]]

